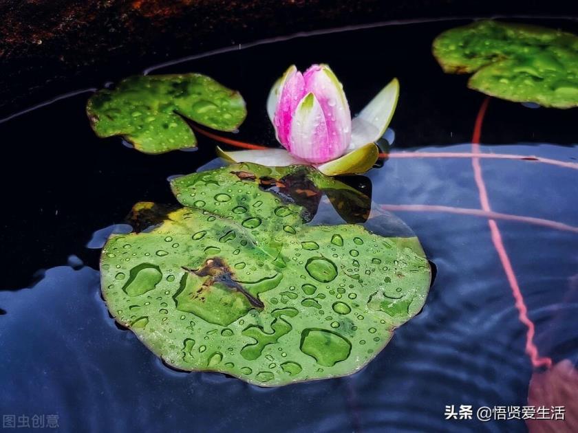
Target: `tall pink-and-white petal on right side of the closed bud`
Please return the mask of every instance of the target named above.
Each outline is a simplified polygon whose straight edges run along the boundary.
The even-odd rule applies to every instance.
[[[343,85],[328,65],[312,65],[303,79],[306,91],[315,95],[323,109],[330,153],[335,157],[343,155],[351,142],[351,113]]]

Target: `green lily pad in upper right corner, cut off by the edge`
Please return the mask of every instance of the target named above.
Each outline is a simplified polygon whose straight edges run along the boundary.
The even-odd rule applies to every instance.
[[[469,87],[544,107],[578,106],[578,36],[546,27],[477,21],[438,36],[446,72],[472,74]]]

